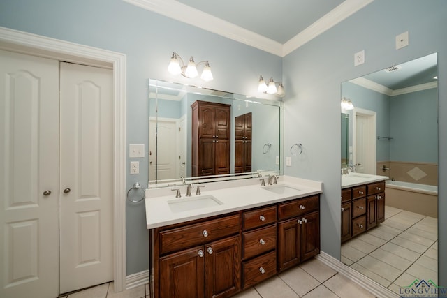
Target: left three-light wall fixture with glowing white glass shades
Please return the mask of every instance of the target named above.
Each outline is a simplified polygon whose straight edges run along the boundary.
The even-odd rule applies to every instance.
[[[182,63],[181,65],[180,62]],[[170,57],[168,72],[172,75],[183,75],[184,77],[193,79],[194,77],[198,76],[197,66],[200,64],[205,64],[200,78],[206,82],[212,81],[214,78],[212,77],[211,67],[208,61],[200,61],[196,64],[191,56],[188,64],[185,65],[182,57],[180,57],[180,55],[176,52],[173,52],[173,56]]]

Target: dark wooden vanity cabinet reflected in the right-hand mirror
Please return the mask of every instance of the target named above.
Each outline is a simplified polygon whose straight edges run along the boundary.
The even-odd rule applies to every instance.
[[[342,242],[385,220],[385,182],[342,189]]]

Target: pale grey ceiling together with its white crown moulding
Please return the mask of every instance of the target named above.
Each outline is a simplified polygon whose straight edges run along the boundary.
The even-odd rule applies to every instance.
[[[284,57],[373,0],[124,0]]]

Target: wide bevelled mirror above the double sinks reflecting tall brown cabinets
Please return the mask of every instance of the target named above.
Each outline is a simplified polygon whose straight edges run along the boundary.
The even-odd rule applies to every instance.
[[[280,101],[149,79],[150,187],[281,174],[282,113]]]

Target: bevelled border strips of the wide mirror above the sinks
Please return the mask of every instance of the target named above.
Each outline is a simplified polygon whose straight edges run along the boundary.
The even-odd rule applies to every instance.
[[[148,103],[149,103],[149,119],[152,119],[151,117],[151,103],[150,100],[154,98],[151,94],[151,87],[159,88],[159,82],[163,84],[174,84],[178,85],[179,90],[183,90],[186,92],[186,94],[221,94],[221,98],[227,98],[228,100],[233,100],[233,103],[261,103],[263,105],[270,105],[273,107],[279,108],[279,165],[277,169],[275,170],[264,170],[264,171],[258,171],[258,172],[245,172],[240,174],[220,174],[220,175],[210,175],[210,176],[199,176],[199,177],[179,177],[175,179],[154,179],[152,180],[149,173],[149,181],[148,181],[148,188],[161,188],[161,187],[172,187],[172,186],[179,186],[184,185],[186,183],[207,183],[207,182],[214,182],[214,181],[228,181],[228,180],[237,180],[237,179],[250,179],[254,177],[261,177],[268,174],[284,174],[284,167],[283,167],[283,161],[284,161],[284,102],[281,100],[270,100],[265,98],[258,98],[256,96],[245,96],[242,94],[235,94],[228,91],[220,91],[216,89],[210,89],[205,87],[198,87],[190,84],[182,84],[178,82],[167,82],[164,80],[158,80],[158,79],[148,79]],[[224,95],[224,96],[223,96]],[[155,97],[158,100],[158,94]],[[158,103],[156,103],[156,110],[158,110]],[[156,119],[158,119],[158,111],[156,112]],[[233,120],[233,119],[232,119]],[[150,123],[150,121],[149,121]],[[233,124],[233,121],[232,121]],[[150,130],[149,125],[149,130]],[[149,135],[148,135],[149,137]],[[149,140],[150,142],[150,140]],[[149,161],[150,163],[150,161]],[[150,168],[150,164],[149,164]]]

